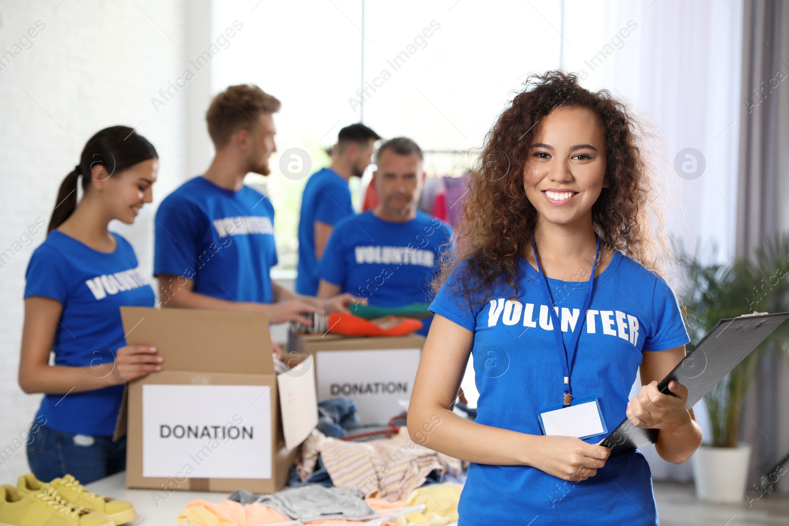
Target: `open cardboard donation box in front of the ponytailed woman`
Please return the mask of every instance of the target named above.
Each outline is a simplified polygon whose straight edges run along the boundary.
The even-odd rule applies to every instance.
[[[129,382],[126,486],[272,493],[317,423],[312,359],[275,375],[263,314],[122,307],[128,345],[163,370]]]

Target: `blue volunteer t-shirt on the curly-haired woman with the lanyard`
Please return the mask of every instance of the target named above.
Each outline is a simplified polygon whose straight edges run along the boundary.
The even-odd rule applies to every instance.
[[[539,274],[521,259],[517,297],[499,283],[491,295],[479,294],[466,307],[456,290],[465,282],[458,278],[463,265],[439,289],[431,310],[474,333],[476,421],[541,435],[537,411],[561,403],[563,373]],[[594,279],[589,310],[581,315],[587,284],[548,279],[566,344],[570,331],[582,324],[570,377],[573,397],[597,397],[613,431],[625,418],[641,353],[673,349],[690,338],[667,283],[633,259],[615,252]],[[458,513],[461,526],[657,521],[651,472],[638,451],[609,457],[595,476],[580,482],[529,466],[471,464]]]

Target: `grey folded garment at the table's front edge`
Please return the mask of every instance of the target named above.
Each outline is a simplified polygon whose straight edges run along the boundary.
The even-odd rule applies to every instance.
[[[292,520],[363,520],[378,517],[375,510],[362,500],[359,491],[342,487],[310,485],[260,496],[238,490],[228,499],[241,504],[257,502]]]

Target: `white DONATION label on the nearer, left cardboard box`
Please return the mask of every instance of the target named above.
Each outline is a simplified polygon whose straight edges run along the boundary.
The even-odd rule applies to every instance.
[[[143,386],[143,476],[271,479],[271,386]]]

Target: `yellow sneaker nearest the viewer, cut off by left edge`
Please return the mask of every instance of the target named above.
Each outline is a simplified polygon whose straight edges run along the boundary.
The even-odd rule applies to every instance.
[[[0,486],[0,524],[4,526],[111,526],[104,513],[63,505],[60,495],[46,484],[24,493],[10,484]]]

